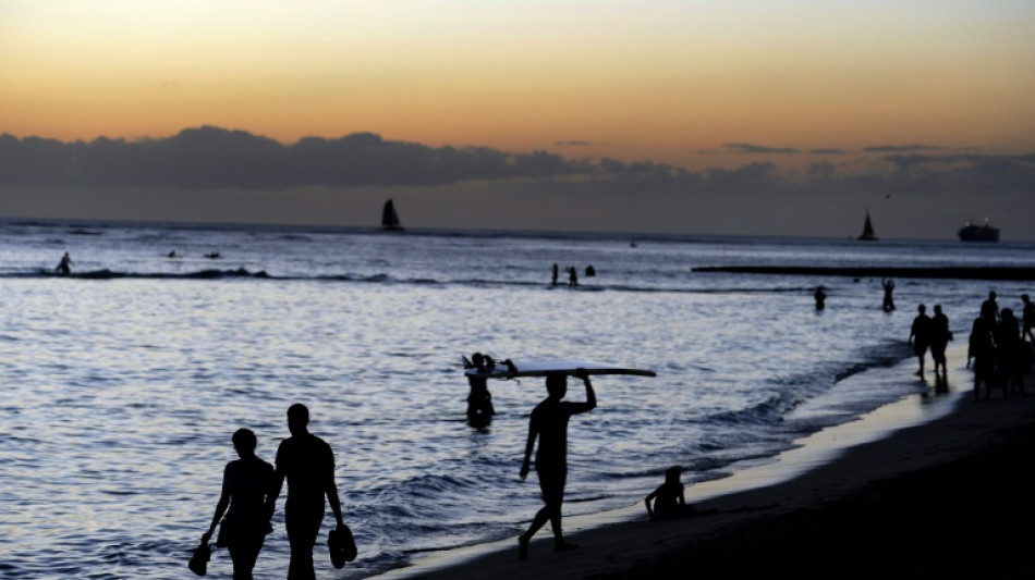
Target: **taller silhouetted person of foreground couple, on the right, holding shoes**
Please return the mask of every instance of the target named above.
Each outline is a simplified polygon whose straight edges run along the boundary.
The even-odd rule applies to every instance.
[[[267,507],[272,514],[284,479],[288,480],[288,499],[284,502],[284,527],[291,544],[291,564],[288,580],[313,580],[313,546],[324,522],[325,503],[330,504],[339,529],[341,502],[334,484],[334,454],[320,437],[309,433],[309,409],[301,403],[288,408],[288,430],[291,436],[277,449],[277,470],[273,491]]]

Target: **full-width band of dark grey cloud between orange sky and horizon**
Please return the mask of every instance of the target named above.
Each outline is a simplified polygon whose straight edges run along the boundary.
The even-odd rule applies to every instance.
[[[198,219],[205,211],[205,219],[229,221],[288,219],[288,210],[322,203],[319,211],[293,218],[312,223],[349,199],[385,195],[409,196],[410,208],[422,205],[418,214],[428,226],[840,235],[857,227],[868,207],[878,215],[884,209],[890,214],[881,217],[885,227],[898,227],[908,237],[917,235],[916,224],[938,220],[943,223],[932,235],[987,214],[1015,218],[1018,229],[1035,219],[1024,209],[1035,207],[1035,155],[947,155],[917,145],[869,148],[861,151],[865,156],[840,149],[726,147],[819,157],[796,169],[748,162],[691,171],[544,151],[429,147],[370,133],[307,137],[291,145],[211,126],[133,141],[0,135],[0,188],[7,192],[0,213],[49,212],[41,192],[60,190],[60,203],[48,199],[65,208],[63,217],[73,203],[82,203],[76,212],[100,214],[87,206],[87,193],[106,192],[109,198],[119,196],[120,215],[146,219],[181,211],[184,203],[168,201],[179,197],[198,208],[194,218],[184,213],[183,219]],[[328,201],[314,190],[340,194]],[[275,209],[260,214],[258,201],[240,202],[240,194],[227,201],[228,192],[255,192],[248,199]],[[891,200],[900,202],[893,211]],[[29,206],[36,209],[25,209]],[[256,206],[249,210],[254,213],[242,213],[247,206]],[[138,210],[131,212],[131,207]],[[502,214],[498,223],[487,219],[490,212]]]

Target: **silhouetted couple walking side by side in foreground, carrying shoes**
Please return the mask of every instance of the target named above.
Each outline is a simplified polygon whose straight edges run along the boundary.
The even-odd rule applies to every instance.
[[[191,560],[195,573],[205,573],[209,541],[218,527],[216,545],[230,552],[234,580],[251,580],[266,535],[273,530],[270,521],[285,480],[284,527],[291,546],[288,579],[316,578],[313,547],[327,504],[330,504],[337,520],[333,539],[328,542],[333,564],[340,567],[339,563],[344,565],[344,559],[355,557],[351,531],[341,516],[334,483],[334,454],[327,442],[309,432],[308,423],[309,410],[305,405],[294,404],[288,408],[291,436],[281,441],[276,467],[256,455],[258,441],[253,431],[239,429],[234,432],[232,442],[240,459],[230,461],[223,471],[216,513]]]

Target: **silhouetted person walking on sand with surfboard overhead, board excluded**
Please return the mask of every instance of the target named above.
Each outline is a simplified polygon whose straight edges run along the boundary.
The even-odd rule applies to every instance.
[[[586,402],[572,403],[561,400],[568,393],[568,378],[563,374],[550,374],[546,378],[547,397],[536,405],[528,420],[528,441],[525,444],[525,459],[521,464],[521,479],[528,477],[532,449],[536,439],[535,470],[539,478],[539,490],[546,505],[536,513],[528,530],[518,539],[518,557],[528,557],[528,542],[547,521],[553,528],[553,551],[564,552],[575,546],[564,541],[561,530],[561,504],[564,502],[564,482],[568,478],[568,421],[571,416],[593,410],[597,406],[597,396],[593,392],[589,377],[579,369],[575,377],[586,385]]]

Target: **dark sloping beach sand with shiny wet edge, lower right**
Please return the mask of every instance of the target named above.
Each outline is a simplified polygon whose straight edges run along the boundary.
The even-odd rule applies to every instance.
[[[1033,396],[973,403],[961,367],[950,360],[948,394],[911,395],[687,488],[707,514],[648,521],[640,504],[567,525],[573,552],[555,554],[547,527],[526,560],[514,538],[379,578],[1035,578],[1032,375]]]

